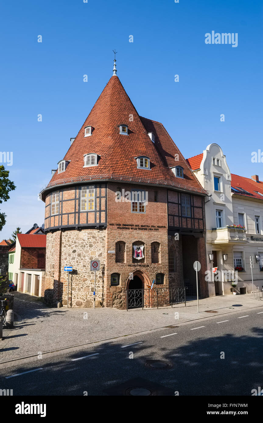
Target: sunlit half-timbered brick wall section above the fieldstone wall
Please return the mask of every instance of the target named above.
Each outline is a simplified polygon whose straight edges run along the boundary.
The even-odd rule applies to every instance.
[[[106,184],[62,187],[46,197],[45,231],[106,225]]]

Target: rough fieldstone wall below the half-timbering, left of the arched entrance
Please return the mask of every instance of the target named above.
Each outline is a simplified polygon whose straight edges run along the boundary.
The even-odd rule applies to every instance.
[[[94,272],[90,271],[90,260],[98,259],[100,270],[96,272],[96,307],[103,305],[105,233],[104,229],[82,229],[47,234],[46,275],[42,290],[47,302],[50,303],[52,294],[49,290],[52,289],[54,304],[61,301],[67,305],[68,300],[69,307],[93,307]],[[68,272],[64,272],[64,266],[73,267],[69,291]]]

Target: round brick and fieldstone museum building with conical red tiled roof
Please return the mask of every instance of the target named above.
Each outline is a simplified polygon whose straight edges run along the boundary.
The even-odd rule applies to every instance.
[[[69,306],[92,307],[92,260],[100,261],[96,306],[141,305],[143,295],[131,299],[126,290],[142,288],[145,305],[155,305],[146,298],[153,281],[166,288],[165,304],[171,288],[195,294],[195,260],[205,297],[205,195],[167,130],[137,113],[114,71],[40,194],[46,302],[66,305],[69,297]],[[73,267],[69,288],[65,266]]]

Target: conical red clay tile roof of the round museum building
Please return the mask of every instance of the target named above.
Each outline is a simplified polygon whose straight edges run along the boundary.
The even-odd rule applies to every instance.
[[[120,124],[128,125],[129,135],[120,134]],[[89,137],[84,137],[86,126],[94,128]],[[155,143],[148,132],[155,134]],[[99,154],[97,166],[83,168],[83,158],[88,153]],[[151,170],[137,169],[135,157],[140,155],[150,158]],[[142,182],[147,179],[153,184],[205,192],[164,126],[138,115],[117,76],[110,78],[64,159],[69,162],[66,170],[63,173],[56,170],[47,187],[88,180],[88,177],[103,180],[123,176],[123,180],[141,178]],[[175,177],[170,169],[178,164],[184,168],[184,179]]]

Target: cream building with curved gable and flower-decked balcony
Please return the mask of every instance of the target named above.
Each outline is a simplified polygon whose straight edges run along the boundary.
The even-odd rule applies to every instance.
[[[258,287],[262,291],[263,182],[257,175],[249,179],[231,174],[222,149],[215,143],[187,162],[210,194],[205,203],[207,269],[211,275],[213,267],[218,272],[208,280],[209,296],[231,294],[231,277],[226,271],[235,269],[235,291],[251,293],[250,256],[254,261],[254,290]]]

